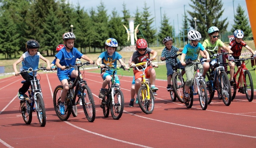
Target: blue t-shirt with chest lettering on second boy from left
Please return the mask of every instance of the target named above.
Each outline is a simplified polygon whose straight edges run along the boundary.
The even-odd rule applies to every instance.
[[[59,59],[59,64],[62,66],[75,65],[76,58],[81,59],[83,54],[77,50],[77,48],[73,48],[69,53],[66,51],[66,47],[62,48],[56,55],[55,58]],[[57,71],[62,71],[60,68]]]

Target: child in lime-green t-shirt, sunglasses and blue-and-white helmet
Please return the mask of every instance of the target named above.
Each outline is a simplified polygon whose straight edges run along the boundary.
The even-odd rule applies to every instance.
[[[208,29],[208,35],[210,38],[205,39],[203,41],[203,47],[206,49],[206,51],[208,51],[209,55],[213,55],[213,54],[217,54],[217,53],[221,53],[221,48],[224,49],[225,51],[227,51],[228,53],[232,54],[232,51],[227,48],[227,46],[224,45],[224,43],[219,39],[220,35],[220,31],[217,27],[212,26]],[[203,53],[203,51],[200,51],[200,55],[202,57],[200,57],[200,61],[206,60],[206,55]],[[221,63],[223,63],[222,61],[222,56],[220,56],[221,59]],[[216,63],[216,59],[213,59],[212,62],[202,62],[203,64],[203,77],[205,78],[206,72],[208,71],[210,64],[213,65]]]

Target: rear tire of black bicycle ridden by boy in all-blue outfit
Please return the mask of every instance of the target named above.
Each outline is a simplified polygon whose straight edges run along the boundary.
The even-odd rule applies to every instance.
[[[57,86],[55,89],[54,89],[54,92],[53,92],[53,106],[54,106],[54,110],[56,112],[56,115],[58,116],[58,118],[62,121],[66,121],[69,119],[69,116],[71,114],[71,108],[69,108],[69,104],[70,104],[70,101],[67,100],[67,98],[65,99],[65,103],[64,103],[64,106],[66,107],[66,110],[65,110],[65,114],[64,115],[61,115],[60,112],[59,112],[59,104],[60,104],[60,94],[63,90],[63,86],[59,85]],[[67,94],[69,95],[69,94]]]

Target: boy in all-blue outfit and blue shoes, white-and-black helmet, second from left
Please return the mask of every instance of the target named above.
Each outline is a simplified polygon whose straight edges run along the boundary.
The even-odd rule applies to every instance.
[[[65,114],[65,106],[64,101],[67,96],[67,92],[69,91],[69,78],[76,78],[78,75],[78,71],[74,68],[66,69],[66,66],[75,65],[76,58],[78,59],[85,59],[87,61],[90,61],[90,64],[93,64],[93,60],[91,60],[86,55],[82,54],[77,50],[77,48],[74,47],[75,42],[75,34],[72,32],[64,33],[62,36],[63,43],[66,47],[63,47],[56,55],[56,66],[57,68],[57,75],[59,78],[59,81],[61,82],[61,85],[63,86],[63,90],[60,96],[60,105],[59,105],[59,111],[61,115]]]

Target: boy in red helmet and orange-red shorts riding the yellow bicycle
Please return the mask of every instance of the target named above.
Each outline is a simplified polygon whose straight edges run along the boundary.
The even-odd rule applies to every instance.
[[[157,51],[154,51],[151,48],[148,48],[147,41],[145,39],[138,39],[136,41],[136,50],[137,51],[133,53],[133,59],[130,64],[131,66],[141,62],[145,62],[147,59],[150,59],[151,61],[153,61],[157,56]],[[153,56],[150,57],[150,54],[153,54]],[[145,69],[145,73],[146,73],[146,78],[150,79],[151,90],[157,91],[158,88],[155,87],[156,71],[152,66],[148,65],[147,69]],[[138,71],[136,68],[134,68],[133,74],[135,76],[135,91],[137,94],[142,81],[142,71]]]

